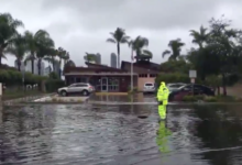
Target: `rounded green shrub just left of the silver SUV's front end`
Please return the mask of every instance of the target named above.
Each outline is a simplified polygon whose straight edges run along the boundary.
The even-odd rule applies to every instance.
[[[58,88],[65,87],[65,81],[61,79],[48,79],[45,82],[45,88],[47,92],[55,92]]]

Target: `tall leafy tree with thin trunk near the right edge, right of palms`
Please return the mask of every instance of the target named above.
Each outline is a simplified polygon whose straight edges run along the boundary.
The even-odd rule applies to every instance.
[[[212,46],[212,52],[219,56],[220,62],[220,74],[222,75],[222,87],[223,95],[227,95],[227,76],[232,74],[234,57],[237,55],[237,44],[234,41],[241,35],[241,32],[234,29],[231,29],[231,21],[223,19],[211,19],[210,24],[210,35],[211,37],[208,41],[208,44]]]

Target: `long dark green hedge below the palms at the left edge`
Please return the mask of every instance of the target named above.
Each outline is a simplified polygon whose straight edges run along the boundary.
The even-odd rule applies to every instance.
[[[29,72],[24,73],[25,85],[40,84],[47,79],[45,76],[33,75]],[[22,85],[22,73],[13,69],[0,69],[0,82],[7,86]]]

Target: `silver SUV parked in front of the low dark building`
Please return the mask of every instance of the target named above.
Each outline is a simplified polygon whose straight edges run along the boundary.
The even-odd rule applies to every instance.
[[[63,87],[57,90],[58,95],[61,96],[68,96],[75,94],[88,96],[94,91],[95,91],[95,87],[92,87],[90,84],[85,84],[85,82],[73,84],[68,87]]]

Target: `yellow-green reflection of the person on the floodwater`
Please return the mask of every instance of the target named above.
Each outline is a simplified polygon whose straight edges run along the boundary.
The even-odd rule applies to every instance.
[[[161,121],[156,136],[156,144],[161,153],[168,153],[168,136],[172,135],[170,130],[166,128],[165,121]]]

